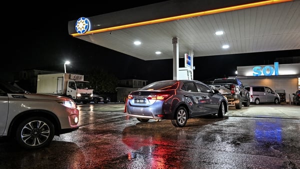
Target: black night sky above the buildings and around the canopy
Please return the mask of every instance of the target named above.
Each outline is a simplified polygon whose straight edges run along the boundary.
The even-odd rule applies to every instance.
[[[64,61],[69,60],[71,63],[66,65],[67,72],[84,73],[87,70],[95,70],[109,72],[119,79],[172,79],[172,59],[144,61],[72,37],[67,30],[68,21],[82,16],[89,17],[159,1],[165,0],[130,1],[125,5],[117,5],[115,1],[105,1],[103,5],[61,5],[61,2],[54,1],[48,4],[34,3],[32,7],[28,3],[19,4],[28,7],[13,8],[3,17],[5,24],[2,26],[4,44],[0,77],[11,79],[13,74],[23,69],[63,72]],[[6,31],[3,31],[3,28]],[[236,66],[272,64],[277,57],[291,56],[300,56],[300,49],[195,57],[194,79],[233,76]],[[4,58],[7,61],[4,61]],[[136,67],[143,67],[144,71],[134,73]]]

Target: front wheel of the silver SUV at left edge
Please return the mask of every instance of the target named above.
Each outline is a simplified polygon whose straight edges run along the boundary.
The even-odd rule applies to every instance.
[[[44,117],[26,118],[17,126],[15,137],[16,142],[23,148],[40,148],[52,141],[54,125]]]

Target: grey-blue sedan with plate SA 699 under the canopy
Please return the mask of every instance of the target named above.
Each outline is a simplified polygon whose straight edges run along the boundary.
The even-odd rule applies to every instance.
[[[140,122],[149,119],[170,119],[176,127],[183,127],[188,118],[228,111],[224,95],[196,80],[163,80],[152,82],[131,91],[126,101],[126,113]]]

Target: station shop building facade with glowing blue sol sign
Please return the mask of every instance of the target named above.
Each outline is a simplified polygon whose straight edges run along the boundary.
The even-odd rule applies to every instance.
[[[300,63],[237,66],[235,78],[244,85],[263,85],[280,95],[281,102],[291,102],[292,93],[300,89]]]

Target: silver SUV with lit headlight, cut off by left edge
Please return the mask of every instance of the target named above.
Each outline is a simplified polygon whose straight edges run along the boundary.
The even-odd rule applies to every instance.
[[[0,137],[23,148],[50,144],[54,135],[76,130],[79,110],[67,97],[28,93],[0,81]]]

